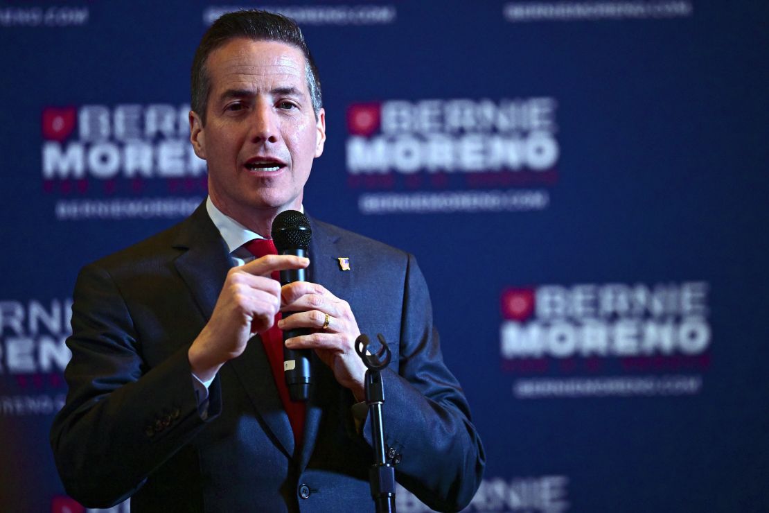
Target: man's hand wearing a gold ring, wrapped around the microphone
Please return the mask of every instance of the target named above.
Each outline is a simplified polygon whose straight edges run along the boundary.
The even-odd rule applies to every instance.
[[[366,367],[355,352],[355,339],[361,335],[358,322],[347,301],[331,294],[323,285],[295,281],[281,289],[281,311],[295,312],[278,321],[278,328],[306,328],[308,335],[289,338],[291,349],[315,349],[336,380],[349,388],[356,401],[365,400]],[[328,326],[323,328],[328,315]]]

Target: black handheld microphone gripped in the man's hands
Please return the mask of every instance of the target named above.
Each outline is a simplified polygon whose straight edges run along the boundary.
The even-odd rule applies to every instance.
[[[278,214],[272,222],[272,241],[278,255],[307,256],[312,230],[306,215],[295,210],[286,210]],[[286,269],[281,271],[281,286],[294,281],[307,281],[306,269]],[[286,312],[288,317],[292,312]],[[283,331],[283,341],[288,338],[306,335],[305,329]],[[288,393],[294,401],[307,401],[310,397],[312,377],[310,371],[310,350],[289,349],[283,345],[283,371],[288,385]]]

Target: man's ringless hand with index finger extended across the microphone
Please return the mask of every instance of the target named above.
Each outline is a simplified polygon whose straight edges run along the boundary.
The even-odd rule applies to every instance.
[[[271,328],[281,308],[281,285],[271,272],[309,264],[308,258],[266,255],[231,268],[211,319],[187,353],[192,374],[211,380],[221,365],[245,351],[251,337]]]

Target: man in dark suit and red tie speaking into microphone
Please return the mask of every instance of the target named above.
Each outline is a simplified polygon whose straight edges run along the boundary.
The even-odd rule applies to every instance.
[[[66,490],[93,507],[130,496],[133,511],[373,509],[362,331],[393,352],[384,422],[398,481],[432,508],[462,508],[484,453],[414,258],[314,219],[309,259],[245,250],[278,213],[302,208],[323,151],[320,85],[298,27],[266,12],[223,16],[198,47],[192,97],[208,201],[78,277],[70,391],[52,428]],[[271,279],[298,268],[308,282]],[[312,351],[306,404],[288,398],[272,358],[278,311],[295,312],[278,328],[308,330],[286,341]]]

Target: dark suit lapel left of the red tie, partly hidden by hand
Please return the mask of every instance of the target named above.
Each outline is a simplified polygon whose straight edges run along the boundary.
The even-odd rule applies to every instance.
[[[227,272],[235,265],[216,226],[205,211],[205,202],[181,227],[175,248],[186,250],[174,264],[208,321],[224,285]],[[278,390],[261,338],[248,342],[244,353],[228,361],[220,372],[234,371],[248,398],[263,419],[273,438],[288,457],[294,454],[291,423],[281,404]]]

